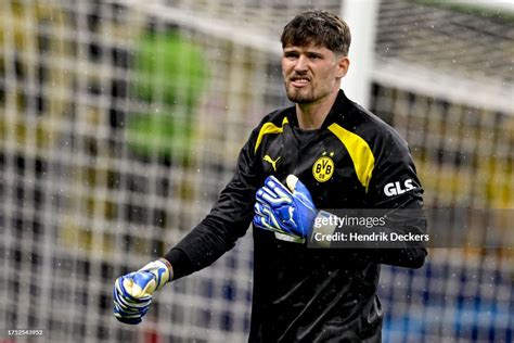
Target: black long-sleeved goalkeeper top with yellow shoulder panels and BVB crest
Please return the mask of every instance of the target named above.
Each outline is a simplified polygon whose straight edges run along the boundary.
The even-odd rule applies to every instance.
[[[234,246],[254,216],[255,193],[269,175],[296,175],[317,208],[422,208],[423,190],[403,139],[346,98],[318,130],[298,128],[295,107],[267,115],[243,147],[232,180],[210,214],[165,256],[175,278],[200,270]],[[387,185],[409,180],[408,191]],[[391,228],[425,232],[425,221]],[[420,267],[424,247],[309,249],[254,228],[250,342],[378,342],[380,264]]]

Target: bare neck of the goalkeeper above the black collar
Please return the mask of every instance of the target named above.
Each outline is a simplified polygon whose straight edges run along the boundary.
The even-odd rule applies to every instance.
[[[323,125],[330,110],[337,98],[337,91],[330,93],[326,98],[312,103],[297,103],[296,117],[298,126],[304,130],[316,130]]]

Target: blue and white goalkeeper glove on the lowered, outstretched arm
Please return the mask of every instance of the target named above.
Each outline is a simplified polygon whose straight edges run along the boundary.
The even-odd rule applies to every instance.
[[[171,265],[164,258],[116,279],[113,294],[116,319],[131,325],[141,322],[149,312],[153,293],[171,279]]]

